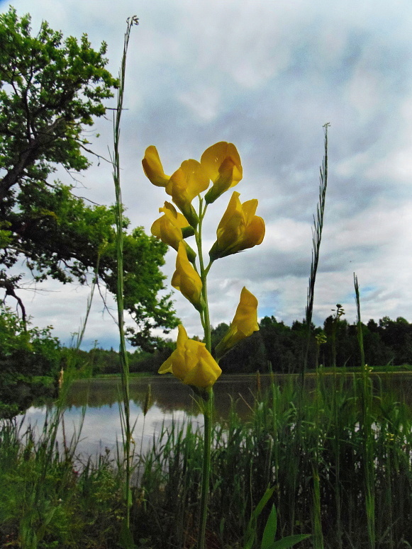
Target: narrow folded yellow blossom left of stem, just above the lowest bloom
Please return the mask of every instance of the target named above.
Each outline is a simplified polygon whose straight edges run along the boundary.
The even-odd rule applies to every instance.
[[[182,242],[177,249],[176,271],[172,276],[172,286],[180,290],[198,311],[203,310],[204,299],[201,295],[201,278],[194,270],[189,259],[187,259],[186,248]]]

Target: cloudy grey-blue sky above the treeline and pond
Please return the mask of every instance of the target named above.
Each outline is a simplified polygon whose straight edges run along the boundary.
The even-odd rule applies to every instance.
[[[409,0],[16,0],[33,31],[43,19],[55,30],[108,43],[108,69],[118,73],[126,18],[140,25],[130,38],[121,126],[121,185],[132,226],[150,232],[167,199],[141,167],[155,145],[166,174],[218,141],[233,142],[243,164],[234,190],[257,198],[265,239],[219,259],[208,278],[211,324],[230,322],[245,285],[259,300],[259,318],[303,319],[318,203],[323,125],[330,123],[329,172],[316,325],[343,305],[356,317],[353,273],[362,319],[412,321],[412,4]],[[9,2],[0,1],[0,11]],[[115,106],[115,99],[107,105]],[[89,135],[108,156],[112,121]],[[96,133],[100,134],[96,138]],[[65,172],[57,172],[71,183]],[[56,177],[57,177],[56,176]],[[94,162],[77,192],[114,201],[111,168]],[[208,209],[205,253],[230,198]],[[167,286],[176,253],[167,252]],[[23,267],[22,267],[23,268]],[[65,344],[84,318],[89,287],[49,281],[21,290],[33,324],[52,324]],[[10,299],[10,298],[9,298]],[[189,336],[199,315],[177,291],[177,315]],[[15,307],[12,300],[8,301]],[[113,300],[108,306],[115,314]],[[171,336],[174,336],[172,333]],[[96,295],[84,349],[118,347],[116,324]]]

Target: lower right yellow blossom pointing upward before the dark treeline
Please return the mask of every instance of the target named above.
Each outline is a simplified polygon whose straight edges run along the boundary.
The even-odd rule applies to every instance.
[[[216,358],[221,358],[229,349],[237,344],[245,337],[257,332],[259,324],[257,324],[257,299],[255,295],[246,290],[240,293],[240,301],[235,312],[235,317],[230,324],[228,332],[216,346]]]

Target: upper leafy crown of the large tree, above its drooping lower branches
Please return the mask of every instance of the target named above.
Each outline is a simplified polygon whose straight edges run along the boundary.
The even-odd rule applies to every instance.
[[[0,16],[0,200],[13,202],[18,184],[46,181],[56,164],[80,171],[89,166],[84,125],[102,116],[102,101],[117,81],[105,69],[106,43],[91,48],[43,22],[30,35],[30,16],[11,8]],[[11,192],[10,192],[11,191]]]

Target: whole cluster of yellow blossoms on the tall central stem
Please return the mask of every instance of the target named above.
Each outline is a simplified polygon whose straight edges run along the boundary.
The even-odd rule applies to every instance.
[[[142,164],[151,183],[164,187],[172,198],[173,204],[165,202],[159,209],[163,215],[153,223],[152,234],[177,251],[172,286],[199,311],[206,341],[201,343],[189,339],[184,327],[179,326],[177,349],[162,364],[159,373],[171,372],[183,383],[207,390],[221,374],[219,359],[241,339],[259,329],[257,299],[243,288],[228,333],[216,347],[216,359],[211,356],[207,273],[216,259],[260,244],[265,236],[265,222],[262,217],[255,215],[257,200],[240,203],[240,193],[233,191],[218,225],[216,242],[208,254],[209,264],[205,267],[201,249],[201,225],[206,209],[243,177],[243,168],[235,145],[218,142],[206,149],[200,162],[194,159],[185,160],[171,176],[165,174],[154,146],[147,147]],[[199,198],[197,211],[192,204],[196,197]],[[195,237],[197,254],[186,242],[191,236]],[[196,266],[196,257],[199,259],[199,268]]]

